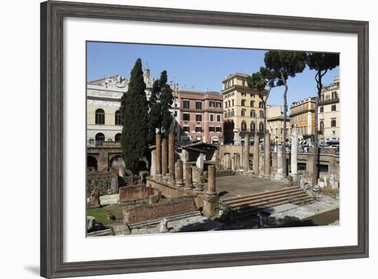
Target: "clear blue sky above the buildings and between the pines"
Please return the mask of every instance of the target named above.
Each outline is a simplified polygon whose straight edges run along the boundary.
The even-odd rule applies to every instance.
[[[265,50],[229,49],[215,47],[181,47],[167,45],[138,45],[131,43],[87,43],[87,79],[121,74],[129,78],[135,60],[142,58],[151,75],[159,78],[168,72],[168,80],[180,87],[221,91],[222,80],[234,72],[252,74],[264,65]],[[289,78],[287,104],[315,96],[315,71],[306,68],[296,78]],[[323,78],[324,85],[339,76],[339,67]],[[272,89],[268,104],[283,103],[284,87]]]

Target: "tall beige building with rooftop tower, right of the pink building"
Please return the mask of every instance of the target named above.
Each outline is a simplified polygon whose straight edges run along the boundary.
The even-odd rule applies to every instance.
[[[223,80],[225,144],[241,144],[246,132],[264,131],[263,102],[258,93],[248,87],[247,78],[247,74],[235,73]]]

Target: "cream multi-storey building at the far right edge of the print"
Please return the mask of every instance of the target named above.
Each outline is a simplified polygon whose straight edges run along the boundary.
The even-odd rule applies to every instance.
[[[340,77],[323,87],[318,108],[321,143],[340,140]]]

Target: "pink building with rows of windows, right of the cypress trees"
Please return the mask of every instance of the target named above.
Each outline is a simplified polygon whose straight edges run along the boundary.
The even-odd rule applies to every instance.
[[[223,143],[222,94],[216,91],[179,89],[180,141]]]

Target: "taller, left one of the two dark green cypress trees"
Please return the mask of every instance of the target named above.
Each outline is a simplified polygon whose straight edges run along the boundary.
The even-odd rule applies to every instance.
[[[121,98],[122,156],[126,168],[137,173],[140,157],[148,150],[148,102],[145,93],[142,60],[137,59],[131,70],[129,90]]]

